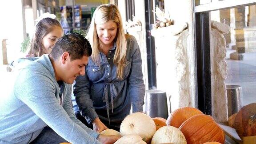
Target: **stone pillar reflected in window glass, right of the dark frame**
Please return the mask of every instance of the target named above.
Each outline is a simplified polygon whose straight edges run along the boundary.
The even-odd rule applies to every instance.
[[[211,84],[212,84],[212,117],[217,122],[228,121],[228,98],[225,85],[228,64],[226,57],[226,40],[224,33],[229,32],[229,26],[212,21],[211,29]]]

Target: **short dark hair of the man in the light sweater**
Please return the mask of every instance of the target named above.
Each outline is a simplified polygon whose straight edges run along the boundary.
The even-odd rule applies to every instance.
[[[50,56],[57,60],[64,52],[68,52],[71,60],[81,59],[83,56],[92,55],[92,47],[88,40],[79,33],[68,33],[54,44]]]

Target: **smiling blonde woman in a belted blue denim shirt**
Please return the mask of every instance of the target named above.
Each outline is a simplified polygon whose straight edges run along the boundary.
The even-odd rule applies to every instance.
[[[114,4],[103,4],[93,14],[86,38],[92,56],[74,84],[74,110],[78,119],[97,132],[119,131],[130,112],[142,112],[145,86],[140,48],[136,39],[125,35],[122,19]],[[81,116],[81,115],[82,116]]]

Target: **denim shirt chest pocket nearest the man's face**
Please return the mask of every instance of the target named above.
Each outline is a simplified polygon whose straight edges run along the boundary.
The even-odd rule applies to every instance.
[[[87,75],[89,80],[97,81],[102,77],[102,72],[100,71],[100,66],[88,66],[87,67]]]

